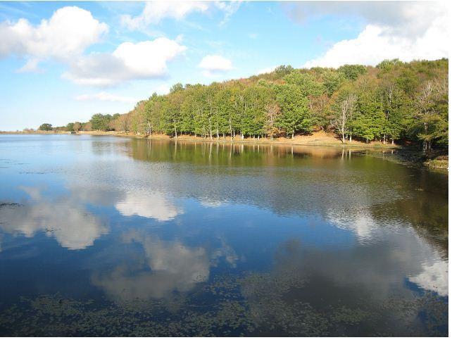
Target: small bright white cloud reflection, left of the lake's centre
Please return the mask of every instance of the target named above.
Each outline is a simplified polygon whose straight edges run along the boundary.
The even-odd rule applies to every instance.
[[[128,191],[115,208],[125,216],[138,215],[158,221],[172,220],[183,212],[160,192]]]

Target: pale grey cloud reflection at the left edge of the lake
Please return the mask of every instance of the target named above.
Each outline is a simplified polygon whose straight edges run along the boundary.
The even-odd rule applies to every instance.
[[[30,200],[20,206],[1,208],[0,229],[3,232],[25,237],[46,232],[64,248],[76,250],[92,246],[94,240],[108,231],[99,218],[89,214],[79,201],[70,196],[51,201],[44,198],[37,188],[23,189]]]

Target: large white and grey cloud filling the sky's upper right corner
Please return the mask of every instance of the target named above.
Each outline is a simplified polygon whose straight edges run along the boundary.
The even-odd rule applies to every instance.
[[[387,58],[402,61],[448,57],[448,8],[442,3],[334,2],[287,5],[289,17],[303,22],[324,15],[354,16],[367,25],[355,39],[334,44],[303,67],[337,67],[345,63],[375,65]]]

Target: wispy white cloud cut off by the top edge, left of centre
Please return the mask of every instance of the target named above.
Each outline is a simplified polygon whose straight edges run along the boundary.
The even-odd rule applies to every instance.
[[[241,1],[150,1],[146,2],[142,13],[136,16],[121,16],[121,24],[129,30],[146,30],[149,25],[157,25],[165,18],[182,20],[191,13],[206,13],[217,8],[225,13],[220,24],[229,20],[240,6]]]

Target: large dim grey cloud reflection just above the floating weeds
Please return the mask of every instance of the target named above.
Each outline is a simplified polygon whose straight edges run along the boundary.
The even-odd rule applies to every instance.
[[[222,248],[209,254],[200,246],[185,246],[181,241],[164,241],[142,232],[131,231],[123,235],[125,243],[142,246],[144,258],[139,259],[137,270],[120,265],[108,274],[92,276],[92,283],[101,287],[116,303],[151,299],[170,299],[175,292],[187,293],[196,284],[207,282],[210,267],[224,257],[231,267],[237,255],[222,242]]]

